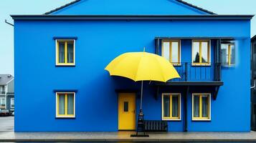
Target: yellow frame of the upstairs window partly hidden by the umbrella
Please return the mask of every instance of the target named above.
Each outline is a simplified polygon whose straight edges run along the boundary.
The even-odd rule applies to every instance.
[[[181,65],[181,40],[178,39],[163,39],[162,40],[162,44],[161,44],[161,55],[163,56],[163,43],[164,42],[169,42],[169,61],[171,62],[171,64],[175,65],[175,66],[180,66]],[[178,63],[174,63],[172,62],[172,42],[178,42]]]

